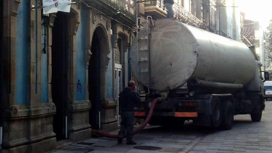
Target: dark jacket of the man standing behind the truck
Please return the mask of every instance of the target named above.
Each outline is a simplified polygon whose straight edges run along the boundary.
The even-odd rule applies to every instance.
[[[138,93],[134,92],[131,88],[126,87],[120,93],[121,111],[134,111],[134,104],[141,101]]]

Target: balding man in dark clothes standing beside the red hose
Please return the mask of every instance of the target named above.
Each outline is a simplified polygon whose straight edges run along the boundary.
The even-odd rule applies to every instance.
[[[120,93],[121,102],[121,129],[118,132],[118,143],[122,143],[126,133],[126,144],[135,145],[133,138],[133,120],[134,120],[134,104],[141,101],[140,96],[135,87],[134,81],[128,82],[126,87]]]

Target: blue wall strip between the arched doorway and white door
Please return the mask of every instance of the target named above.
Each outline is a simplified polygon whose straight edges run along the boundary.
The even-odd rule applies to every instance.
[[[111,35],[111,44],[113,44],[113,36]],[[107,75],[107,98],[113,98],[113,47],[111,46],[111,52],[109,53],[110,60],[108,62]]]

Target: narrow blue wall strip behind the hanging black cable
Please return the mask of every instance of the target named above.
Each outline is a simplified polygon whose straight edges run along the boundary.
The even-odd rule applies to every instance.
[[[41,20],[41,23],[44,19]],[[43,53],[44,45],[41,45],[41,102],[48,102],[48,69],[47,69],[47,28],[45,32],[45,26],[41,25],[41,44],[46,42],[46,53]],[[45,36],[46,34],[46,36]]]

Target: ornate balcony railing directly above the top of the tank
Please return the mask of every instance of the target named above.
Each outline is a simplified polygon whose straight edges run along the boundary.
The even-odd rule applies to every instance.
[[[203,23],[200,19],[194,16],[192,13],[186,11],[181,5],[175,3],[173,6],[174,18],[180,22],[195,26],[197,28],[202,28],[207,30],[207,25]]]

